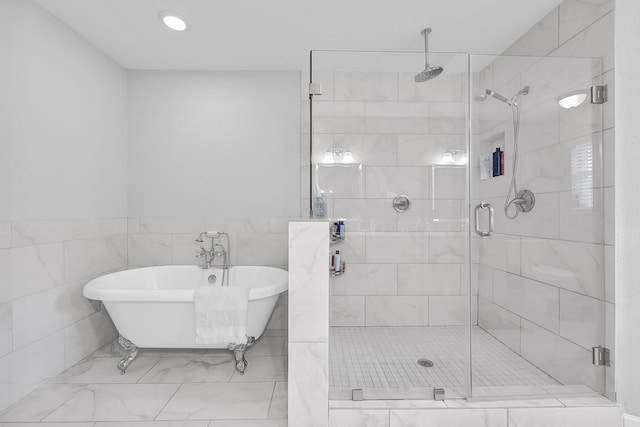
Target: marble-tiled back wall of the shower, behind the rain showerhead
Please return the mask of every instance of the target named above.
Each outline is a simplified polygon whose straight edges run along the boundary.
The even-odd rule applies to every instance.
[[[327,217],[345,219],[347,230],[331,245],[347,264],[331,279],[331,325],[463,324],[465,169],[441,163],[445,151],[465,147],[465,75],[418,85],[410,73],[336,70],[317,71],[314,82],[323,85],[313,109],[314,186],[327,197]],[[301,144],[307,212],[308,133]],[[330,148],[349,149],[358,166],[323,164]],[[406,213],[392,206],[399,194],[411,198]]]

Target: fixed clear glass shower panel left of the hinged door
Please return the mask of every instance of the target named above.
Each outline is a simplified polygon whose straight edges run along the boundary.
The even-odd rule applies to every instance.
[[[330,399],[465,394],[468,55],[431,60],[444,72],[419,83],[423,52],[312,52],[304,188],[345,228]]]

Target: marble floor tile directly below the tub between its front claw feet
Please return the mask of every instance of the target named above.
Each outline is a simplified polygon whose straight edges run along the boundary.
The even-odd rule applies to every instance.
[[[226,383],[234,372],[235,361],[230,355],[171,356],[160,359],[139,383]]]

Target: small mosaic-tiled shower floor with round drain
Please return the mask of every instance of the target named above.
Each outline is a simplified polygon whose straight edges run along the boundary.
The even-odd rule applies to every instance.
[[[462,393],[464,343],[462,326],[333,327],[329,338],[331,397],[350,398],[354,388],[416,391],[439,387]],[[420,358],[431,360],[433,367],[419,366]],[[473,361],[474,387],[560,384],[478,327],[473,329]]]

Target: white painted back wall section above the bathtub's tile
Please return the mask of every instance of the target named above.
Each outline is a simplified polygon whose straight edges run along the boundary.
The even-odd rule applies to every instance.
[[[130,217],[297,217],[298,72],[129,73]]]

